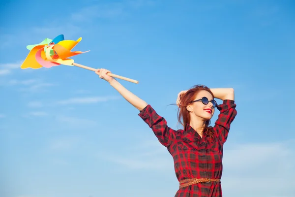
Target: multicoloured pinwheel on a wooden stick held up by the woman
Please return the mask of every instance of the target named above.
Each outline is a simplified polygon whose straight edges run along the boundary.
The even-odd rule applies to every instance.
[[[78,66],[81,68],[85,68],[91,71],[96,71],[97,69],[80,65],[74,63],[74,60],[69,59],[70,57],[87,53],[89,51],[81,52],[81,51],[71,51],[80,41],[82,37],[75,40],[65,40],[63,34],[58,35],[53,40],[49,38],[45,38],[39,44],[28,45],[27,49],[30,50],[27,58],[21,65],[22,69],[33,68],[38,69],[41,67],[50,68],[53,66],[66,65],[66,66]],[[129,79],[126,77],[119,76],[117,74],[108,73],[109,76],[123,79],[132,83],[138,83],[138,81],[134,79]]]

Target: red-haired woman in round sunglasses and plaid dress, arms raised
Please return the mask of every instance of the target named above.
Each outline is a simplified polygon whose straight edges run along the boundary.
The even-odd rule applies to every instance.
[[[98,69],[96,74],[108,81],[128,102],[136,107],[139,116],[152,129],[159,142],[167,147],[174,159],[179,190],[175,197],[222,197],[223,144],[230,125],[236,117],[232,88],[208,89],[195,86],[178,94],[178,121],[183,130],[173,130],[166,120],[144,100],[138,98],[117,80],[107,75],[109,70]],[[214,98],[223,100],[217,105]],[[214,127],[209,127],[215,108],[220,111]]]

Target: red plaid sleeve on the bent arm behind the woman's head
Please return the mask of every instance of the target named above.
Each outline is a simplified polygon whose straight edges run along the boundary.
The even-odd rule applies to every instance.
[[[230,131],[231,123],[236,117],[236,104],[234,100],[223,100],[223,103],[217,106],[220,111],[215,122],[213,130],[217,133],[219,140],[224,144]]]

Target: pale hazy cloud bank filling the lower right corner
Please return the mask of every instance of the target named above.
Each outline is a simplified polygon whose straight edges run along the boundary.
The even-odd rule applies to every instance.
[[[224,193],[227,196],[244,194],[243,197],[288,196],[294,193],[294,142],[231,145],[223,158]]]

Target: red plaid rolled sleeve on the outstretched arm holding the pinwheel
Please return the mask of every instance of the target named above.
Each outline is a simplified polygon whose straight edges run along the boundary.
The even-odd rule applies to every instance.
[[[162,145],[168,147],[175,139],[176,131],[167,126],[166,120],[159,116],[156,111],[147,105],[138,114],[151,128]]]

